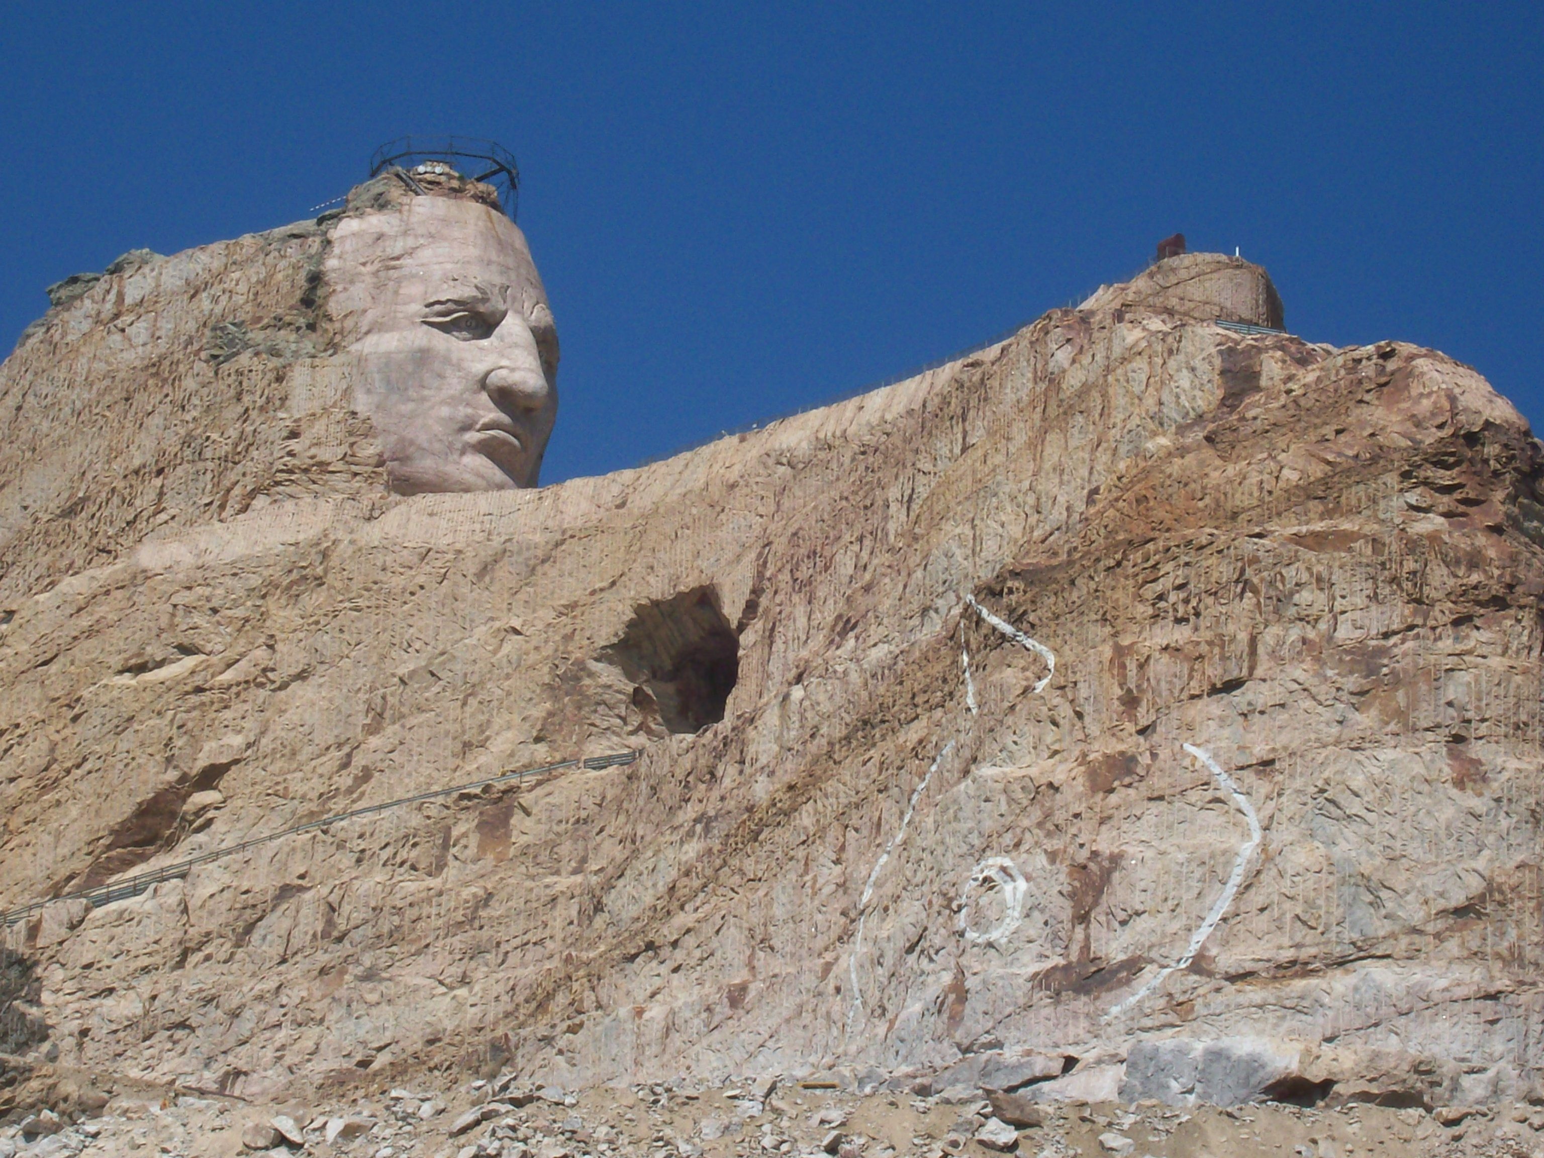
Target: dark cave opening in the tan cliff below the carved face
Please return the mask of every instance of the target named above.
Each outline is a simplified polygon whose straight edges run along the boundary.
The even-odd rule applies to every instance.
[[[633,703],[672,732],[701,732],[724,718],[740,678],[740,636],[713,585],[633,608],[610,656],[636,684]]]

